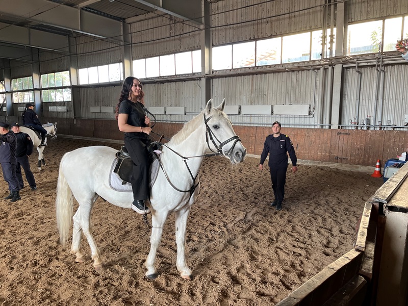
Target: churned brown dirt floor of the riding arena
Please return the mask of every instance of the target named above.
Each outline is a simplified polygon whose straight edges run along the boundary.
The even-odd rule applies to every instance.
[[[70,244],[59,244],[55,196],[63,154],[100,144],[120,147],[49,141],[42,171],[37,152],[30,157],[38,190],[26,185],[21,200],[0,200],[1,305],[274,305],[353,247],[364,203],[382,184],[367,173],[300,165],[288,172],[283,210],[276,211],[269,168],[260,171],[259,159],[232,165],[207,158],[187,223],[194,279],[182,278],[175,267],[174,216],[158,250],[160,276],[148,281],[143,263],[150,233],[142,217],[101,199],[92,213],[106,268],[98,274],[91,259],[74,263]],[[3,176],[0,187],[3,198]],[[82,244],[90,255],[84,237]]]

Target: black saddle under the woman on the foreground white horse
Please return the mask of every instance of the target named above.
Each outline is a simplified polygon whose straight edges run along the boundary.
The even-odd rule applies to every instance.
[[[154,151],[159,149],[159,145],[155,142],[152,142],[147,146],[147,151],[149,152],[149,165],[153,164],[154,161],[158,159],[158,156]],[[122,185],[131,183],[133,175],[133,161],[125,146],[122,146],[120,151],[116,153],[116,159],[117,164],[113,169],[113,172],[120,177],[122,180]]]

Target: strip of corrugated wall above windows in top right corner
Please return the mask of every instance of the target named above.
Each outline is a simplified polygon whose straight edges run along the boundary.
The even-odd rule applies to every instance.
[[[348,22],[391,17],[408,14],[406,0],[349,0],[347,1]],[[395,39],[400,33],[396,33]]]

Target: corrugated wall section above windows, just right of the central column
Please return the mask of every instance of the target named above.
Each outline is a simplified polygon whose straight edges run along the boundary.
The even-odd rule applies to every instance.
[[[254,5],[261,2],[264,1],[224,0],[213,3],[213,45],[322,28],[320,5],[324,4],[324,0],[276,0]]]

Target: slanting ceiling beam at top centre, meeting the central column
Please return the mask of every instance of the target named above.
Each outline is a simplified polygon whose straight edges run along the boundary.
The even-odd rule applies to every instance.
[[[135,0],[145,6],[162,11],[183,20],[189,20],[192,23],[202,25],[201,21],[201,0],[183,1],[180,0]]]

